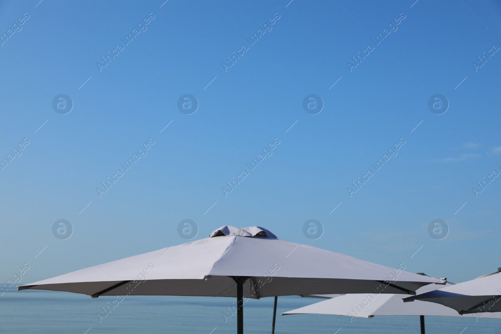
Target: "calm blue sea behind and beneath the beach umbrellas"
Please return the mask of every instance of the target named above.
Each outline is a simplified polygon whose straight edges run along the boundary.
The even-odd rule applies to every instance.
[[[275,333],[420,333],[419,316],[280,315],[321,300],[279,297]],[[11,289],[0,296],[0,333],[235,333],[234,303],[236,298],[228,297],[125,296],[119,301],[116,296],[93,299],[69,292]],[[244,333],[271,333],[273,303],[273,297],[245,302]],[[116,306],[103,313],[108,305]],[[425,326],[426,333],[498,334],[501,319],[426,316]]]

